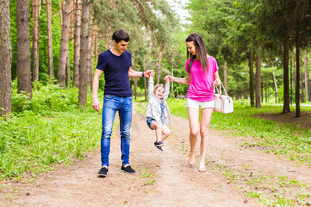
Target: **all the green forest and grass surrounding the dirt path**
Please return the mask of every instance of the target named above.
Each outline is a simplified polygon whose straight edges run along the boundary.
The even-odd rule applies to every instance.
[[[187,19],[175,10],[182,3]],[[1,179],[31,182],[98,148],[101,117],[91,107],[91,81],[118,29],[131,38],[133,70],[155,70],[157,83],[186,77],[185,39],[200,34],[234,97],[234,113],[214,113],[211,129],[254,137],[244,145],[310,166],[310,15],[307,0],[0,1]],[[146,101],[147,79],[130,84],[134,99]],[[171,83],[168,100],[172,114],[186,119],[187,88]],[[104,77],[100,99],[103,89]]]

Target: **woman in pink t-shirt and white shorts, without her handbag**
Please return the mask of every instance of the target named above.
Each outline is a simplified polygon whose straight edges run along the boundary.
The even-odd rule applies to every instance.
[[[200,162],[199,171],[205,172],[205,155],[208,146],[208,132],[211,115],[214,110],[214,89],[219,86],[218,66],[216,59],[207,55],[205,43],[199,34],[192,33],[186,39],[187,63],[185,70],[186,78],[176,78],[167,75],[164,79],[177,83],[190,85],[187,91],[187,110],[189,117],[189,140],[190,154],[188,159],[189,166],[195,163],[195,147],[200,130]],[[189,59],[190,57],[190,59]],[[201,124],[199,128],[199,114],[201,107]]]

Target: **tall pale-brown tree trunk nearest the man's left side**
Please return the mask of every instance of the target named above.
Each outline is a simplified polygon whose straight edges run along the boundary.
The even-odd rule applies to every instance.
[[[88,16],[89,0],[82,1],[81,48],[79,60],[79,105],[86,107],[88,96]]]

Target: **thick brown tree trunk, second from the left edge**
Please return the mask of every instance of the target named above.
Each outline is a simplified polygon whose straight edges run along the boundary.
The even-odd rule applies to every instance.
[[[29,1],[17,0],[17,70],[18,92],[32,97],[31,55],[29,32]]]

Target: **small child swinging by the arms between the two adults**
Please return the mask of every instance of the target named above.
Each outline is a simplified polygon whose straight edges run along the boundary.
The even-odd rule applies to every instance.
[[[157,140],[153,145],[163,152],[163,141],[171,134],[171,130],[165,125],[171,124],[171,114],[165,101],[169,97],[169,79],[165,79],[165,87],[163,84],[156,84],[153,88],[153,77],[149,77],[148,90],[149,103],[145,117],[149,128],[156,130]]]

